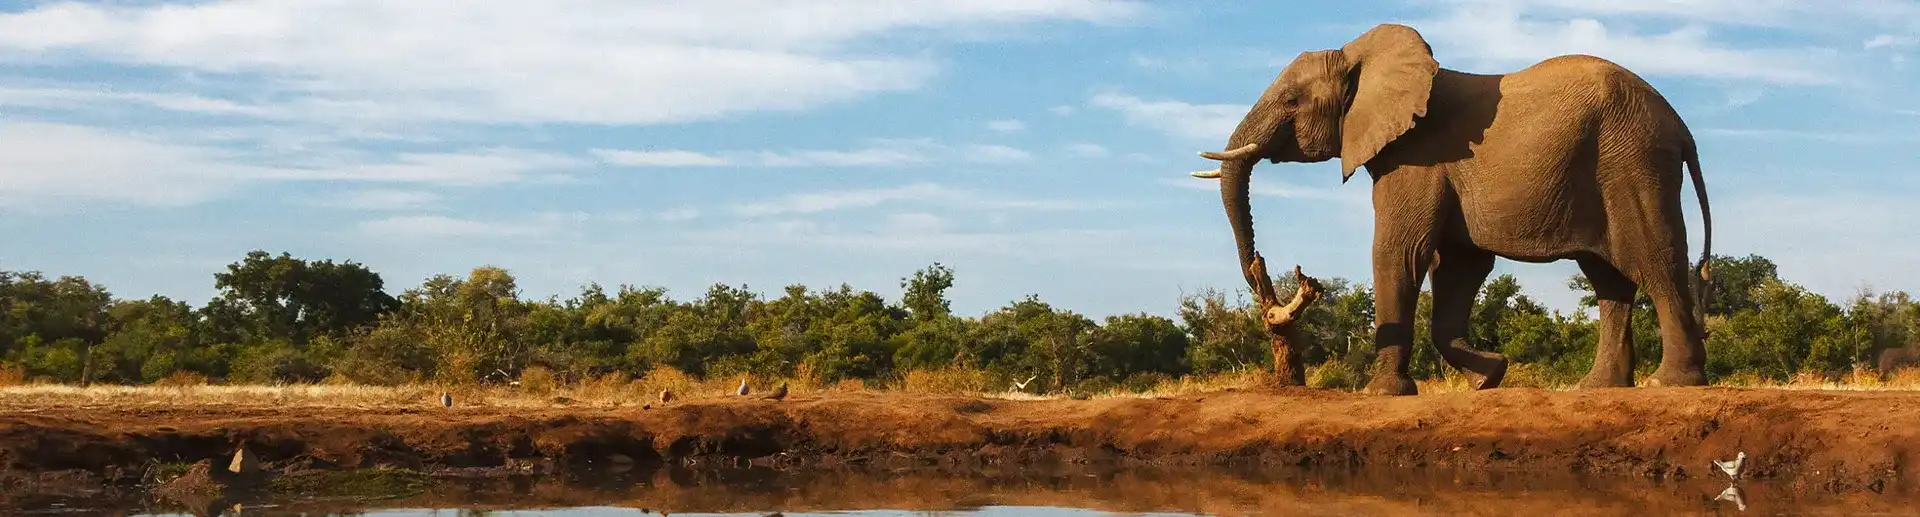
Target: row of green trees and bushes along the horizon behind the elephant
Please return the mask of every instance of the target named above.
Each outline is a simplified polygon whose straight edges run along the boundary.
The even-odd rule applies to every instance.
[[[1920,334],[1907,292],[1862,290],[1843,304],[1782,281],[1761,256],[1713,258],[1709,379],[1828,379],[1872,367],[1884,350]],[[169,377],[211,382],[501,382],[543,369],[561,379],[639,377],[659,367],[693,377],[760,375],[870,386],[908,371],[972,369],[1035,377],[1039,390],[1144,390],[1158,382],[1271,369],[1271,350],[1244,292],[1181,296],[1177,319],[1152,313],[1094,321],[1025,296],[983,315],[956,315],[945,292],[954,271],[933,263],[900,281],[900,300],[847,284],[785,286],[764,296],[714,284],[676,300],[657,286],[584,286],[576,296],[524,300],[492,265],[436,275],[397,296],[367,265],[250,252],[213,275],[202,306],[167,296],[115,298],[83,277],[0,271],[0,381],[146,384]],[[1300,352],[1319,386],[1365,384],[1373,359],[1367,284],[1323,279],[1325,296],[1302,317]],[[1569,288],[1586,290],[1574,275]],[[1277,279],[1283,300],[1290,271]],[[1413,375],[1444,365],[1428,342],[1428,294],[1415,325]],[[1659,363],[1653,304],[1634,308],[1638,369]],[[1572,382],[1592,365],[1594,321],[1549,311],[1511,275],[1482,288],[1471,340],[1546,382]]]

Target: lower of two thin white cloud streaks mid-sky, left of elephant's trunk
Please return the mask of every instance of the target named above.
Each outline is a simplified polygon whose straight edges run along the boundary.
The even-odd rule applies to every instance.
[[[885,188],[824,190],[791,194],[772,202],[733,206],[735,215],[766,217],[793,213],[822,213],[839,209],[876,208],[881,204],[910,202],[916,206],[950,206],[966,209],[1087,209],[1087,202],[1062,200],[1004,200],[975,190],[916,183]]]

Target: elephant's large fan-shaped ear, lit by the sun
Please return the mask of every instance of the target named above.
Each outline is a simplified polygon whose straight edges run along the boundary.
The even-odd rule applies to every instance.
[[[1386,142],[1413,129],[1427,115],[1427,96],[1434,86],[1434,62],[1427,38],[1413,27],[1382,23],[1340,46],[1357,83],[1354,104],[1340,123],[1340,181],[1373,160]]]

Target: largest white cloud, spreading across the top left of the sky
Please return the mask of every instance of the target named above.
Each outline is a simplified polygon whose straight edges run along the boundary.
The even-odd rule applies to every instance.
[[[845,102],[916,88],[937,73],[922,52],[858,44],[872,38],[1121,23],[1144,10],[1119,0],[60,2],[0,13],[0,62],[190,71],[259,92],[173,106],[186,110],[645,125]],[[751,31],[741,13],[753,13]],[[144,96],[182,94],[125,100],[154,104]]]

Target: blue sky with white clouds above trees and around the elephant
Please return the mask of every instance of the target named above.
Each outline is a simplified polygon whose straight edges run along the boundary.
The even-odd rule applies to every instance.
[[[1354,4],[0,2],[0,267],[202,304],[253,248],[390,292],[492,263],[530,298],[891,298],[941,261],[962,313],[1171,315],[1240,286],[1194,152],[1298,52],[1396,21],[1461,71],[1628,65],[1701,140],[1716,254],[1834,298],[1920,286],[1920,4]],[[1363,181],[1254,186],[1273,263],[1367,281]],[[1500,271],[1574,306],[1572,263]]]

